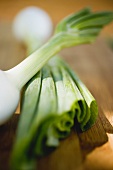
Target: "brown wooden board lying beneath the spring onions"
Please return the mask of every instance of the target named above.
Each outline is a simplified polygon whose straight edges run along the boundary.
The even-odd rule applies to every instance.
[[[99,38],[94,44],[63,50],[61,55],[96,98],[99,116],[86,132],[79,132],[75,125],[55,151],[37,160],[38,169],[113,170],[113,52]],[[24,57],[25,50],[11,33],[11,23],[0,23],[0,69],[11,68]],[[0,170],[9,169],[18,119],[15,114],[0,126]]]

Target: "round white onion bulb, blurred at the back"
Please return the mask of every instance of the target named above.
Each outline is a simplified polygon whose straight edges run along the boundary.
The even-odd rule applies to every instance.
[[[27,46],[30,54],[44,44],[53,30],[51,18],[36,6],[26,7],[14,18],[12,31],[16,39]]]

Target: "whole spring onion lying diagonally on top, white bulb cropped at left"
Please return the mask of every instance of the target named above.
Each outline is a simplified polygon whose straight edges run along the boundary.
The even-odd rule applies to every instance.
[[[17,108],[22,87],[52,56],[63,48],[93,42],[101,28],[112,19],[112,12],[91,13],[89,9],[72,14],[58,24],[53,37],[41,48],[12,69],[1,70],[0,124],[6,122]]]

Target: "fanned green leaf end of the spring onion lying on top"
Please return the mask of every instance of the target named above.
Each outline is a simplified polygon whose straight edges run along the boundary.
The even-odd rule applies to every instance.
[[[85,8],[64,18],[56,27],[55,33],[67,36],[68,47],[83,43],[91,43],[102,28],[113,20],[113,12],[92,12]],[[69,45],[70,43],[70,45]]]

